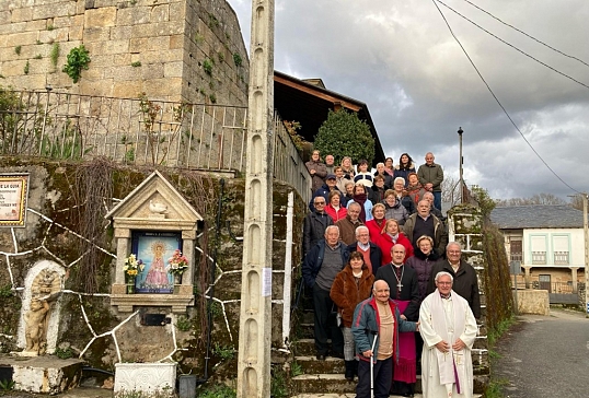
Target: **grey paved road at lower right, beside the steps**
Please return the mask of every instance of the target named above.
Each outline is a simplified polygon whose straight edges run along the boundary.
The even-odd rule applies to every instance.
[[[523,315],[498,342],[493,378],[509,398],[589,397],[589,319],[551,309]]]

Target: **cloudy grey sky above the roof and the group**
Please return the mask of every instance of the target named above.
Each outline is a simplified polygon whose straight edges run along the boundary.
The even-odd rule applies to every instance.
[[[250,0],[229,0],[249,47]],[[574,191],[533,153],[451,36],[438,4],[526,139],[568,185],[589,190],[587,0],[276,0],[275,69],[321,78],[368,105],[386,155],[431,151],[458,177],[497,199]],[[566,54],[555,52],[472,4]],[[577,60],[575,58],[580,59]],[[581,62],[582,61],[582,62]],[[585,62],[585,63],[584,63]]]

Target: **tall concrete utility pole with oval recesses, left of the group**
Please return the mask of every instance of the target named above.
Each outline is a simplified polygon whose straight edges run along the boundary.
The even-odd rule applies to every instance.
[[[274,0],[252,0],[238,398],[270,396]]]

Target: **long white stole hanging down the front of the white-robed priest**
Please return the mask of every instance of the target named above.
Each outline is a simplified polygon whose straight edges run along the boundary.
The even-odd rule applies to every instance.
[[[452,344],[460,337],[465,327],[464,321],[464,303],[460,300],[455,300],[458,294],[454,291],[450,292],[450,297],[452,297],[451,307],[453,315],[453,340],[450,341],[448,336],[448,326],[446,325],[446,306],[443,298],[440,295],[438,289],[434,292],[431,300],[431,325],[434,330],[442,338],[443,341],[450,344],[450,351],[442,353],[436,349],[436,354],[438,356],[438,370],[440,373],[440,384],[442,385],[452,385],[455,383],[457,390],[461,394],[461,382],[457,372],[457,365],[454,361],[454,352],[452,350]]]

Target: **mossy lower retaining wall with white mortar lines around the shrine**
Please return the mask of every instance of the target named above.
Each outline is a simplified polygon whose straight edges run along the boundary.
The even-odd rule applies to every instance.
[[[39,261],[50,259],[66,271],[65,285],[60,297],[58,339],[49,352],[59,350],[81,358],[89,364],[101,368],[113,368],[117,362],[154,362],[173,359],[181,363],[184,372],[203,374],[204,339],[201,327],[206,314],[200,312],[199,303],[204,295],[209,295],[208,280],[199,282],[200,262],[195,270],[195,302],[186,314],[173,314],[169,307],[136,306],[134,313],[118,313],[112,306],[109,286],[116,259],[116,247],[112,227],[104,229],[104,235],[94,241],[99,249],[96,269],[96,291],[91,292],[77,282],[77,276],[88,266],[88,253],[81,249],[80,242],[85,239],[81,231],[83,197],[78,197],[76,185],[79,184],[83,167],[97,168],[92,164],[68,164],[66,162],[24,163],[19,159],[0,159],[3,173],[30,173],[30,195],[27,220],[24,229],[0,230],[0,353],[20,351],[18,347],[19,325],[22,324],[24,307],[25,279],[28,271]],[[114,182],[113,198],[104,198],[104,203],[116,203],[151,174],[152,169],[113,165],[109,178]],[[195,194],[190,183],[190,173],[174,169],[160,169],[166,179],[183,194],[185,199],[199,213],[209,214],[199,226],[196,241],[196,256],[203,257],[203,250],[212,256],[211,246],[219,244],[218,267],[212,294],[213,328],[212,353],[210,366],[221,377],[234,377],[238,349],[238,329],[241,291],[242,244],[239,237],[243,232],[243,179],[228,178],[222,196],[221,234],[219,241],[215,235],[215,215],[220,191],[219,177],[204,175],[204,185]],[[292,188],[275,182],[274,184],[274,236],[273,236],[273,347],[280,349],[282,342],[282,291],[286,250],[286,213],[287,197]],[[207,198],[209,197],[209,198]],[[212,200],[210,199],[212,198]],[[203,211],[199,203],[208,200],[212,206]],[[108,209],[113,204],[108,206]],[[105,209],[107,210],[107,209]],[[104,211],[104,210],[102,210]],[[296,195],[294,225],[302,224],[305,203]],[[104,220],[100,216],[97,220]],[[227,227],[230,222],[231,233]],[[105,226],[107,221],[104,220]],[[208,232],[208,241],[204,232]],[[302,231],[293,231],[292,264],[297,266],[300,258]],[[233,236],[232,236],[233,235]],[[234,239],[236,237],[236,239]],[[210,257],[209,257],[210,258]],[[294,284],[294,281],[292,282]],[[24,308],[25,311],[27,308]],[[146,326],[146,315],[159,314],[170,319],[168,325]],[[234,354],[233,361],[228,356]],[[223,373],[224,372],[224,373]]]

